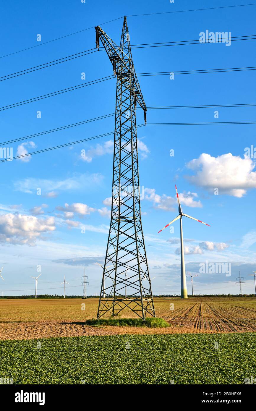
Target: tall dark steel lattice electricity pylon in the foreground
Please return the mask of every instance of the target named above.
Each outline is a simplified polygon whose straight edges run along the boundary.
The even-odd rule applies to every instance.
[[[155,317],[155,308],[141,226],[136,103],[144,111],[145,124],[147,108],[134,70],[126,17],[120,47],[99,26],[95,30],[96,46],[101,40],[117,76],[111,222],[97,318],[115,316],[128,307],[144,320],[147,314]]]

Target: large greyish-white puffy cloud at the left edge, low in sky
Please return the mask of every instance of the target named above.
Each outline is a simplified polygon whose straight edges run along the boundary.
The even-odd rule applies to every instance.
[[[0,215],[0,242],[35,245],[42,233],[55,230],[54,217],[39,219],[32,215]]]

